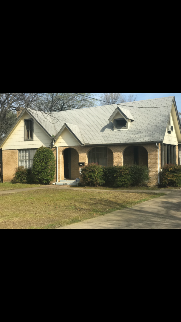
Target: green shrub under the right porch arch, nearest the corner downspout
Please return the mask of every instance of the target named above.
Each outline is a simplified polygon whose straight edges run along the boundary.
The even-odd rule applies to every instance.
[[[131,185],[140,186],[144,182],[149,181],[149,169],[148,166],[138,166],[134,164],[129,166],[129,171],[131,175]]]

